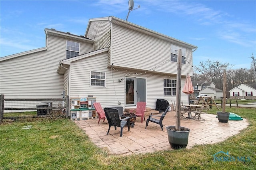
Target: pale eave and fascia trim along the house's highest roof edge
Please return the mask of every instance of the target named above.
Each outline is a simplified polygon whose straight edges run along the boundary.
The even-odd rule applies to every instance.
[[[142,33],[142,34],[146,34],[148,36],[152,36],[152,37],[155,37],[155,38],[158,38],[158,39],[161,39],[161,40],[164,40],[164,41],[167,41],[167,42],[170,42],[170,43],[174,43],[176,45],[180,45],[182,47],[187,47],[189,49],[196,49],[197,46],[195,45],[191,45],[189,43],[186,43],[186,42],[182,42],[180,40],[177,40],[175,38],[172,38],[172,37],[169,37],[169,36],[166,36],[164,34],[160,34],[158,32],[155,32],[155,31],[152,31],[152,30],[149,30],[147,28],[144,28],[142,26],[138,26],[136,24],[132,24],[131,22],[128,22],[128,21],[125,21],[125,20],[122,20],[122,19],[119,19],[119,18],[116,18],[114,16],[109,16],[109,17],[103,17],[103,18],[92,18],[89,20],[88,22],[88,26],[86,28],[86,32],[84,34],[84,37],[87,37],[87,34],[88,34],[88,31],[89,31],[89,28],[90,28],[90,25],[92,24],[92,22],[95,22],[95,21],[108,21],[110,22],[111,24],[115,24],[115,25],[118,25],[118,26],[121,26],[123,28],[127,28],[129,30],[133,30],[135,32],[139,32],[139,33]]]

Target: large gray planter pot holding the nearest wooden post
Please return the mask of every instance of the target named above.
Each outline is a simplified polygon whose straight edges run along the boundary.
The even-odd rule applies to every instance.
[[[166,127],[169,144],[173,149],[186,148],[190,129],[181,127],[182,131],[176,131],[175,126]]]

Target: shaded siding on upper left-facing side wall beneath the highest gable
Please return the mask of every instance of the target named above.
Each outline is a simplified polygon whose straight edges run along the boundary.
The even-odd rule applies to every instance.
[[[92,22],[86,38],[94,40],[93,50],[103,49],[110,46],[110,22]]]

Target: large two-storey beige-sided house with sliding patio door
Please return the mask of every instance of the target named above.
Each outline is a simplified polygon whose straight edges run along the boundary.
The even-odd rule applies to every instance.
[[[0,58],[0,93],[6,98],[93,95],[102,107],[135,107],[176,100],[178,49],[182,79],[192,75],[196,46],[116,17],[94,18],[84,36],[45,29],[46,47]],[[188,95],[181,93],[188,103]],[[68,109],[70,110],[70,108]]]

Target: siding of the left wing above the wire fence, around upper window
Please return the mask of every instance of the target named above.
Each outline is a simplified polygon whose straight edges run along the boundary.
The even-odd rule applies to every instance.
[[[79,43],[80,53],[92,51],[92,44]],[[6,98],[62,98],[67,85],[56,71],[60,61],[66,59],[66,39],[48,36],[47,44],[46,51],[1,61],[1,94]]]

